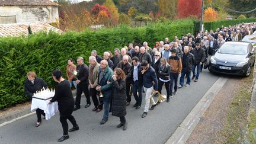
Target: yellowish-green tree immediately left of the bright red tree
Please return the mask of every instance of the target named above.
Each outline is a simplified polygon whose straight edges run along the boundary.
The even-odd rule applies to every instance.
[[[158,9],[162,17],[173,18],[177,15],[178,0],[159,0]]]

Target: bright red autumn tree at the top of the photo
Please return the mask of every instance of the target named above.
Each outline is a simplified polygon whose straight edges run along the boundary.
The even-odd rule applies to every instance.
[[[179,0],[178,1],[178,18],[187,18],[191,15],[199,18],[201,16],[201,0]]]

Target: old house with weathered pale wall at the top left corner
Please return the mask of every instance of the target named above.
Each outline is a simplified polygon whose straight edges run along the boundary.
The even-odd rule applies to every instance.
[[[0,24],[59,22],[58,7],[49,0],[0,0]]]

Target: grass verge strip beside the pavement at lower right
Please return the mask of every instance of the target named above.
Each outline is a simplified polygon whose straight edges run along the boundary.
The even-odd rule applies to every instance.
[[[253,69],[252,72],[254,72]],[[245,137],[253,137],[249,136],[247,131],[247,116],[252,94],[253,73],[241,81],[241,85],[236,90],[229,106],[228,115],[225,121],[223,121],[223,128],[216,133],[216,143],[244,143]],[[254,123],[251,126],[255,127],[256,115],[252,116],[252,118]]]

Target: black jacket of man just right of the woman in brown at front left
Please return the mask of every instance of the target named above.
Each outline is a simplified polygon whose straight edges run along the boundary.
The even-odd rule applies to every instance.
[[[76,70],[78,71],[77,78],[80,80],[79,85],[88,85],[89,84],[89,68],[84,63],[81,66],[77,66]]]

